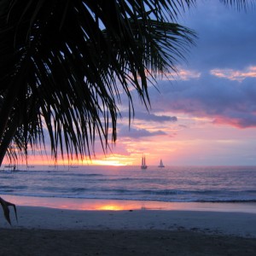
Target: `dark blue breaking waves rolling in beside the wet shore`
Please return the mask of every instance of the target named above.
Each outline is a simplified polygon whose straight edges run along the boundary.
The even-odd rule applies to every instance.
[[[237,191],[236,191],[237,192]],[[0,187],[2,195],[21,195],[35,197],[55,197],[74,199],[107,199],[128,201],[163,201],[163,202],[256,202],[256,191],[186,191],[186,190],[149,190],[149,189],[86,189],[72,188],[63,189],[48,187],[41,190],[26,189],[26,186],[11,188]]]

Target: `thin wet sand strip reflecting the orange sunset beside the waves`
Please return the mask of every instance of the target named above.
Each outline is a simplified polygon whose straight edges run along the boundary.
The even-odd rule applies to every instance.
[[[17,207],[49,207],[80,211],[198,211],[198,212],[245,212],[256,213],[256,202],[164,202],[127,201],[108,199],[80,199],[0,195]]]

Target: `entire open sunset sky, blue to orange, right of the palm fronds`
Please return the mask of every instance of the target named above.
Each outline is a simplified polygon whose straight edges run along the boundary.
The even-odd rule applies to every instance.
[[[256,165],[256,9],[198,1],[179,22],[198,37],[179,75],[149,88],[149,113],[134,95],[130,128],[124,101],[112,152],[96,146],[85,165]]]

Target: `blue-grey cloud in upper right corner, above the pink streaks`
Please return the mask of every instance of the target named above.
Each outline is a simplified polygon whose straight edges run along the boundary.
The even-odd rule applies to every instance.
[[[181,22],[198,36],[187,55],[189,67],[202,71],[255,66],[255,9],[238,11],[220,1],[199,1]]]

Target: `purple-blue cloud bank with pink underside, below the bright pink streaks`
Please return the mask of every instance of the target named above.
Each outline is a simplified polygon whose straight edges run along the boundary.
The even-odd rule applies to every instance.
[[[199,80],[161,82],[161,95],[152,96],[159,111],[212,119],[214,124],[256,127],[256,79],[219,79],[205,74]]]

